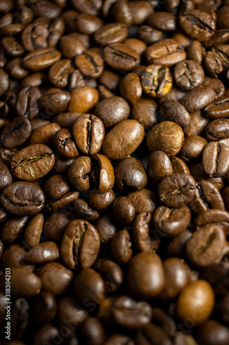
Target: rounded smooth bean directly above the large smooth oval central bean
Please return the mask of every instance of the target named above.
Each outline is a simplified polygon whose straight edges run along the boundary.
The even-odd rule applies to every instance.
[[[122,97],[109,97],[98,103],[95,115],[98,116],[106,128],[114,126],[129,117],[130,107]]]

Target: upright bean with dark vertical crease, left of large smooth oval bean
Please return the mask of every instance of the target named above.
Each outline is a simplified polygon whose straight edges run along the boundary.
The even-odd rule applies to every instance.
[[[77,147],[89,155],[100,150],[105,137],[102,121],[91,114],[80,115],[74,123],[72,132]]]

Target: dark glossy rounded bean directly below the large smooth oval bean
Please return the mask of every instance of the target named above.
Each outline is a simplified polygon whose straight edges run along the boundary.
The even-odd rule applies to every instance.
[[[133,190],[141,190],[147,183],[144,166],[135,157],[121,159],[116,165],[115,176],[118,190],[128,187]]]

